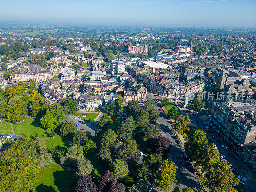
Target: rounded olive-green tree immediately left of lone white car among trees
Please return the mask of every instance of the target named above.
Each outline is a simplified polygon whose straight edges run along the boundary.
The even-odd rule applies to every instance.
[[[135,140],[127,140],[118,148],[116,157],[126,162],[138,154],[139,150],[137,147],[138,145]]]

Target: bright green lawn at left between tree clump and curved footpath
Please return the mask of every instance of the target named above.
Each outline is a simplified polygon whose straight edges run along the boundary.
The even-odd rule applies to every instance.
[[[16,135],[21,135],[24,138],[33,138],[36,134],[39,137],[46,138],[49,137],[50,131],[46,131],[39,123],[39,120],[28,121],[23,123],[18,123],[12,125],[14,133]]]

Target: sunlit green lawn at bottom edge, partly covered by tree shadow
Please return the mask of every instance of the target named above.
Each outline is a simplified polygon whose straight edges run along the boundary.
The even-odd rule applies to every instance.
[[[34,181],[34,188],[37,192],[73,192],[75,191],[75,185],[72,184],[74,174],[74,171],[51,164],[39,171]]]

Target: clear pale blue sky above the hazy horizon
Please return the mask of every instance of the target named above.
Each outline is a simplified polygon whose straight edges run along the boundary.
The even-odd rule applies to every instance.
[[[256,0],[1,0],[0,21],[256,27]]]

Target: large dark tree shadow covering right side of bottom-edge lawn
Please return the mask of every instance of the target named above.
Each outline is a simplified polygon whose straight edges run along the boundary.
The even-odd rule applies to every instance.
[[[72,181],[75,172],[64,169],[63,171],[53,172],[54,184],[61,192],[74,192],[75,183]]]

